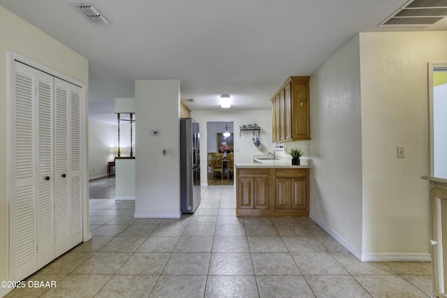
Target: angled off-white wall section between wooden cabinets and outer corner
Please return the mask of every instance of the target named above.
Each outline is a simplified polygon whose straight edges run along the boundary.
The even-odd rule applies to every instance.
[[[362,135],[358,36],[312,74],[310,216],[360,258]]]

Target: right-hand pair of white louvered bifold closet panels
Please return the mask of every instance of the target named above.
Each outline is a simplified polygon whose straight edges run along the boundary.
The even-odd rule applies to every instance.
[[[56,90],[56,257],[82,242],[81,89],[54,78]]]

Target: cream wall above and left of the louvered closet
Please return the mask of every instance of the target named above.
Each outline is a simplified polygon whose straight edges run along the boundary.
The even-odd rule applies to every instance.
[[[88,86],[88,61],[0,6],[0,281],[8,281],[8,61],[7,50],[53,68]]]

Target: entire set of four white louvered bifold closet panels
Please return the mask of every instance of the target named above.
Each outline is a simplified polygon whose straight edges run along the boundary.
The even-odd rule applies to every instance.
[[[82,88],[18,61],[13,75],[13,279],[83,240]]]

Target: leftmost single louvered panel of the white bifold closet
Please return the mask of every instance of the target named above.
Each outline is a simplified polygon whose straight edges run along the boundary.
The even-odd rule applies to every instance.
[[[14,172],[13,202],[15,233],[15,276],[25,277],[37,268],[36,216],[36,143],[35,101],[36,71],[15,64],[14,77]]]

